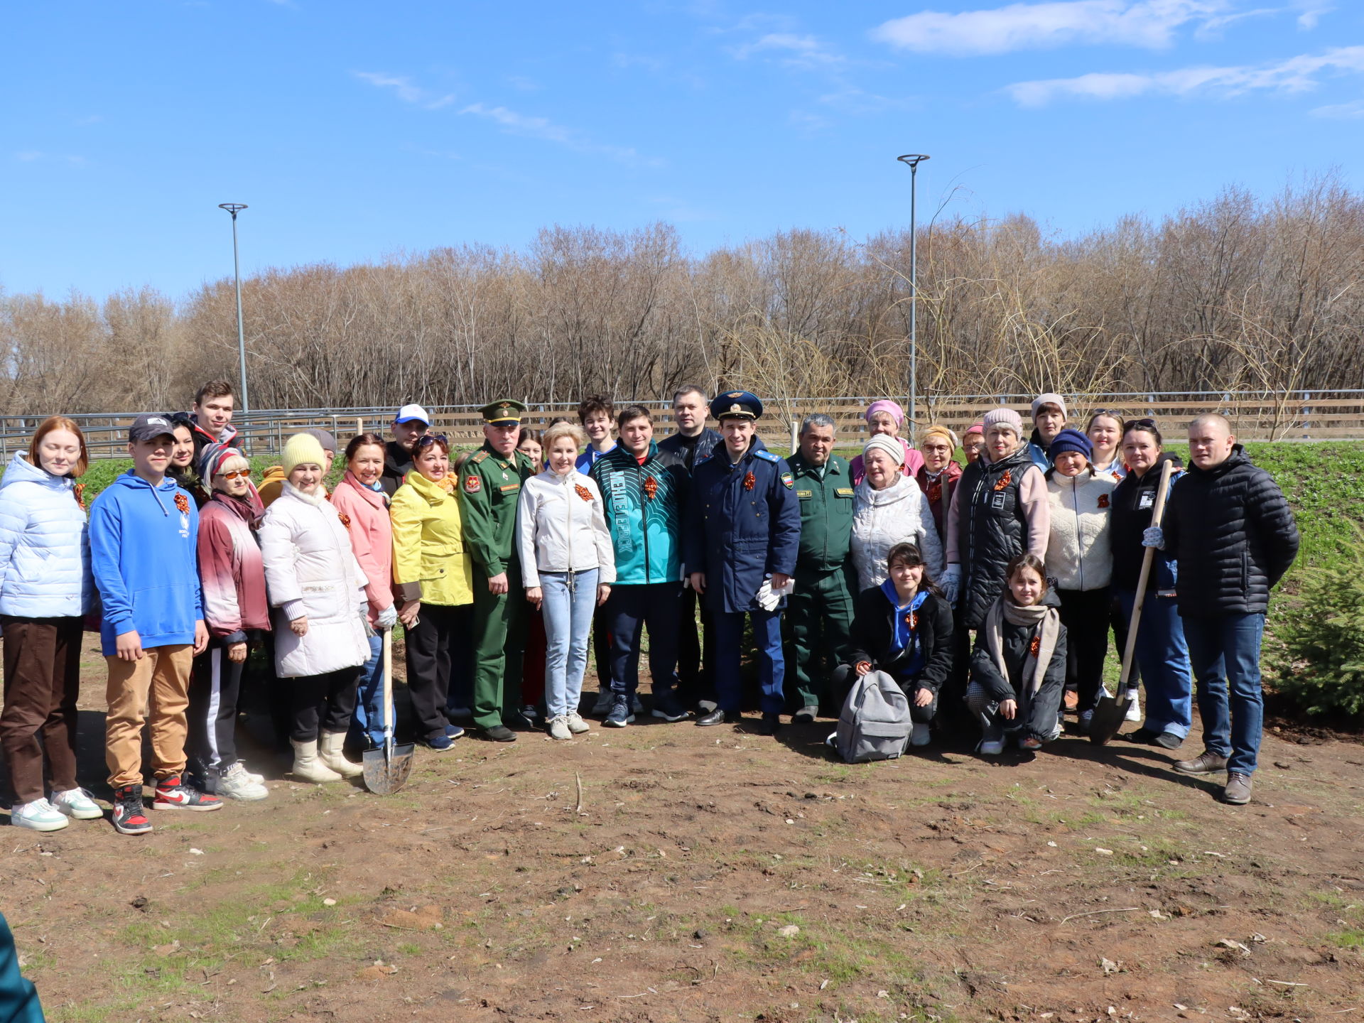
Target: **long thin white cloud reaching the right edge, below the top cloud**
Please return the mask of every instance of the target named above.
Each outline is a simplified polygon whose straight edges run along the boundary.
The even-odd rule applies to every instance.
[[[1361,72],[1364,46],[1338,46],[1324,53],[1304,53],[1269,64],[1189,67],[1150,74],[1090,74],[1016,82],[1004,91],[1023,106],[1042,106],[1068,97],[1127,100],[1135,95],[1183,97],[1198,93],[1230,97],[1255,90],[1305,93],[1316,89],[1322,75]]]

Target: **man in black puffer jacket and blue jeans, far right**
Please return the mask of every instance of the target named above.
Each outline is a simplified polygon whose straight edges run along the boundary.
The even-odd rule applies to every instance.
[[[1174,769],[1226,771],[1222,798],[1239,806],[1251,799],[1264,720],[1264,612],[1270,589],[1297,557],[1297,525],[1278,484],[1251,462],[1225,417],[1189,423],[1189,460],[1162,527],[1143,540],[1178,565],[1176,599],[1203,719],[1204,752]]]

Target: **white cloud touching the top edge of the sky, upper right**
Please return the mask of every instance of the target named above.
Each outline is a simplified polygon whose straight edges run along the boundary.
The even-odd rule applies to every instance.
[[[1067,44],[1159,49],[1174,31],[1230,10],[1230,0],[1057,0],[982,11],[922,11],[872,30],[872,38],[918,53],[1008,53]]]

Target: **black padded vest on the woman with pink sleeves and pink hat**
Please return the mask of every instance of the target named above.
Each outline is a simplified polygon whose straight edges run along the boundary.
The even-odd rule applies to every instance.
[[[1033,466],[1026,446],[1008,458],[977,458],[956,484],[956,554],[962,559],[956,625],[979,629],[985,612],[1004,591],[1005,566],[1027,550],[1027,517],[1019,483]],[[1000,486],[1008,473],[1008,483]]]

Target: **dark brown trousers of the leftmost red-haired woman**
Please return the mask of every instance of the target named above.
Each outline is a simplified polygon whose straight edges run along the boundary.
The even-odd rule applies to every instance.
[[[20,803],[46,798],[44,752],[52,790],[64,792],[76,787],[80,627],[79,618],[0,618],[4,632],[0,746]]]

